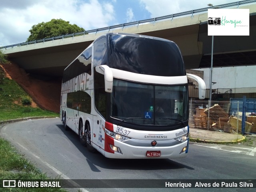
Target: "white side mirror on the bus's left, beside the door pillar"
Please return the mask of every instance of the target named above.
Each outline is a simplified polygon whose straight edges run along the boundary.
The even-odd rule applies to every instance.
[[[110,67],[107,65],[100,65],[98,67],[95,67],[95,70],[104,75],[104,82],[105,82],[105,91],[107,93],[112,93],[113,89],[113,73]]]

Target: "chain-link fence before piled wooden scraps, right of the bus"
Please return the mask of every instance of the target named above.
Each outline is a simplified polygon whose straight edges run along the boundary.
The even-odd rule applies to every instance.
[[[209,108],[210,106],[210,108]],[[242,102],[198,101],[189,102],[189,126],[199,129],[242,132]],[[246,113],[246,133],[256,133],[256,116]]]

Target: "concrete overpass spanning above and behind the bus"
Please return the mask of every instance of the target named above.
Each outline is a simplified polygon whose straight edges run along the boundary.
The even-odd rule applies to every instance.
[[[250,36],[214,36],[213,67],[256,65],[256,4],[250,9]],[[71,38],[3,49],[28,73],[62,76],[64,68],[93,40],[107,32],[134,33],[172,40],[178,44],[186,69],[210,67],[212,37],[207,35],[207,12],[121,27]]]

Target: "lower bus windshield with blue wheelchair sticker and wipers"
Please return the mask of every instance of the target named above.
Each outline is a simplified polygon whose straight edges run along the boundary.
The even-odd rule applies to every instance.
[[[172,126],[188,120],[187,85],[114,79],[110,116],[136,125]]]

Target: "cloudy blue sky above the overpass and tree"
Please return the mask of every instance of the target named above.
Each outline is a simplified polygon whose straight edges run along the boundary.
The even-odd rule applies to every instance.
[[[236,0],[0,0],[0,47],[26,42],[33,25],[62,19],[94,30]]]

